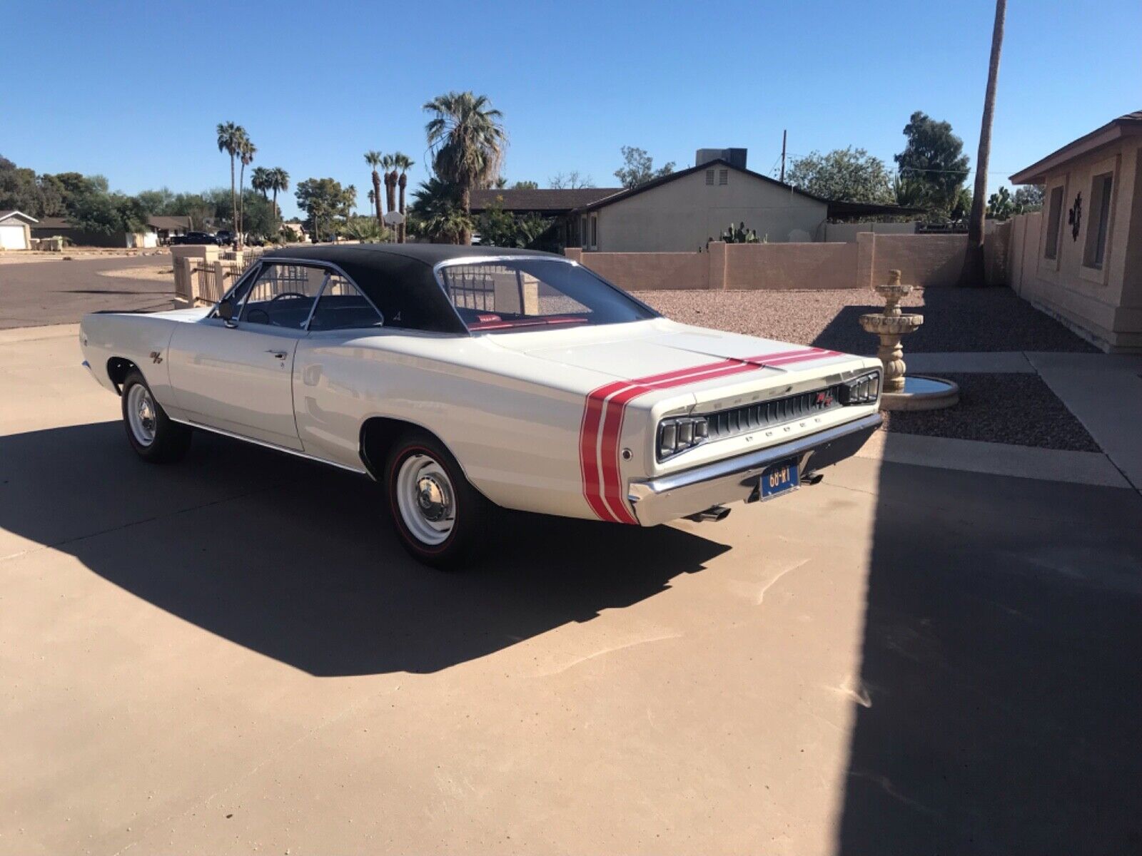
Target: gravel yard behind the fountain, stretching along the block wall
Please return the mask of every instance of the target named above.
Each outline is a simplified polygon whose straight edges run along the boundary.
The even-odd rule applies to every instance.
[[[879,312],[874,291],[643,291],[636,297],[667,317],[735,333],[875,354],[876,338],[858,318]],[[908,352],[1067,350],[1096,353],[1010,289],[915,289],[901,304],[924,315],[904,339]]]

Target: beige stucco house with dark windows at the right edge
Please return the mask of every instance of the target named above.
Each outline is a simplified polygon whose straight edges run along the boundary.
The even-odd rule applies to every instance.
[[[1142,111],[1011,176],[1044,186],[1012,221],[1011,286],[1107,352],[1142,353]]]

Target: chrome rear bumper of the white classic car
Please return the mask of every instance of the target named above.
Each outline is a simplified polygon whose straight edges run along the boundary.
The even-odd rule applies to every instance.
[[[770,465],[796,458],[802,477],[856,454],[880,425],[871,413],[852,422],[756,452],[671,473],[646,482],[632,482],[627,499],[643,526],[676,520],[710,506],[748,499],[757,478]]]

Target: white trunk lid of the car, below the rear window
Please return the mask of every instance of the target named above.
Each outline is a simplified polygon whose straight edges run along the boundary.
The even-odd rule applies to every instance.
[[[619,380],[637,380],[740,361],[783,372],[802,368],[801,357],[851,358],[825,348],[654,320],[572,330],[508,333],[494,337],[499,347]],[[797,361],[794,364],[785,361]],[[769,373],[769,372],[767,372]]]

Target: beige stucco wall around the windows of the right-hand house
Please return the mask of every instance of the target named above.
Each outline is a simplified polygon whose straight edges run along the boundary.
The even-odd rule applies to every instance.
[[[1142,143],[1127,137],[1092,152],[1047,176],[1051,191],[1063,188],[1059,251],[1048,259],[1048,211],[1016,217],[1007,256],[1008,283],[1024,299],[1055,315],[1104,350],[1142,352]],[[1088,229],[1096,227],[1091,210],[1092,180],[1112,171],[1111,221],[1101,269],[1083,264]],[[1078,194],[1083,216],[1077,237],[1068,212]]]

